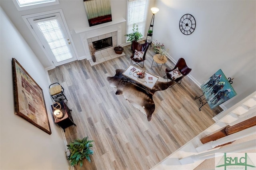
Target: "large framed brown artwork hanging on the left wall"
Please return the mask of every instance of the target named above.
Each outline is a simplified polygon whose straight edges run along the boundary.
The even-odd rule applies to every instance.
[[[43,90],[15,58],[12,58],[12,73],[15,114],[52,134]]]

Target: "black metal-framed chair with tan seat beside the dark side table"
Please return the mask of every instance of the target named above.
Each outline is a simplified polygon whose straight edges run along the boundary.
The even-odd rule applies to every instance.
[[[49,90],[50,90],[50,95],[52,96],[52,99],[57,102],[58,101],[62,101],[62,100],[67,100],[66,96],[64,95],[64,89],[63,87],[60,85],[60,83],[53,83],[49,86]]]

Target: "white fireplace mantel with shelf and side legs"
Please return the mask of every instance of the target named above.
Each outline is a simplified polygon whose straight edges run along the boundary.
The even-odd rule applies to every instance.
[[[122,22],[126,22],[124,18],[116,18],[113,19],[112,22],[107,22],[104,24],[99,24],[96,26],[88,27],[88,28],[74,28],[74,31],[76,34],[80,34],[81,41],[83,43],[84,51],[86,53],[85,57],[79,58],[79,59],[91,59],[90,50],[88,46],[87,39],[93,38],[96,36],[100,36],[103,34],[108,34],[111,32],[117,32],[116,34],[116,41],[117,45],[120,45],[122,43]]]

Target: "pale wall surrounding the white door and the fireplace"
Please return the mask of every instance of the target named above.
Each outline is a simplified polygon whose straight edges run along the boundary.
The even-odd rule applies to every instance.
[[[31,47],[31,49],[33,49],[34,53],[45,68],[51,67],[52,63],[49,61],[49,59],[47,59],[40,45],[38,45],[38,42],[35,40],[34,36],[28,29],[28,26],[22,19],[22,16],[24,15],[62,9],[65,20],[68,24],[68,29],[72,36],[72,40],[74,42],[76,52],[78,53],[77,58],[81,58],[86,55],[84,47],[82,46],[83,42],[81,41],[79,34],[75,34],[74,32],[74,28],[89,27],[83,0],[59,0],[59,2],[60,4],[58,5],[18,11],[12,0],[0,0],[0,5],[2,6],[4,12],[6,12],[7,16],[19,30],[20,34],[24,37],[26,42],[28,42],[28,45]],[[126,18],[126,0],[111,0],[111,13],[113,20],[120,17]],[[124,22],[122,24],[122,43],[125,43],[125,30],[126,23]]]

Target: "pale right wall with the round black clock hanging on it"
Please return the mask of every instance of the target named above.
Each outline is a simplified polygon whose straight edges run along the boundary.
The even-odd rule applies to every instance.
[[[170,55],[186,60],[190,75],[202,84],[218,69],[234,77],[231,107],[256,90],[255,0],[156,0],[153,39],[163,42]],[[179,21],[184,14],[196,19],[195,31],[186,36]],[[198,94],[200,95],[200,94]]]

